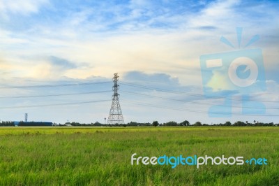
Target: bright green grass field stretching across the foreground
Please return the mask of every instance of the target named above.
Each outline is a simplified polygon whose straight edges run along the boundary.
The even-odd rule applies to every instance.
[[[243,156],[268,165],[134,165],[137,156]],[[1,127],[0,185],[278,185],[279,127]]]

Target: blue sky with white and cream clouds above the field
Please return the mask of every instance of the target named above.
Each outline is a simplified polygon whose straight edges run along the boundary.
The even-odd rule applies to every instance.
[[[118,73],[125,122],[279,123],[278,10],[279,1],[0,0],[0,120],[104,122]],[[227,57],[243,50],[262,78],[237,87]],[[202,56],[216,54],[227,64],[204,76]],[[243,90],[264,113],[249,102],[243,114]],[[209,114],[226,101],[232,115]]]

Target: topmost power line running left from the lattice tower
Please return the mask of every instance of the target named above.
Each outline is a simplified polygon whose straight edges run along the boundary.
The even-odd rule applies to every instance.
[[[24,89],[24,88],[45,88],[45,87],[69,87],[69,86],[82,86],[82,85],[95,85],[95,84],[104,84],[104,83],[111,83],[110,81],[100,81],[100,82],[93,82],[93,83],[69,83],[69,84],[59,84],[59,85],[26,85],[26,86],[7,86],[7,87],[0,87],[0,89]]]

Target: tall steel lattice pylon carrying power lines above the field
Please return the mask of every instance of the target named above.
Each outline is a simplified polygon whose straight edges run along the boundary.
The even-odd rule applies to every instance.
[[[119,76],[117,76],[117,73],[114,73],[114,78],[112,78],[112,81],[114,83],[112,91],[114,92],[114,94],[112,95],[112,107],[110,108],[110,115],[107,118],[107,124],[125,124],[119,104],[119,85],[117,84],[118,80]]]

